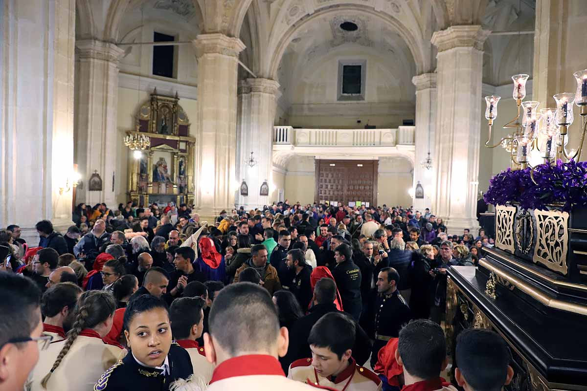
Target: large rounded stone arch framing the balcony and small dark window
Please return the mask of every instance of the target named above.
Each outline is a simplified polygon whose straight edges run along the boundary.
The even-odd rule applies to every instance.
[[[348,4],[348,5],[337,5],[336,7],[329,7],[320,9],[311,15],[305,15],[303,18],[299,19],[295,23],[293,23],[289,28],[281,35],[278,39],[278,43],[276,44],[275,50],[272,51],[271,58],[269,59],[268,63],[268,75],[271,79],[276,80],[277,71],[279,67],[279,63],[281,63],[281,58],[285,53],[286,48],[289,45],[289,42],[293,39],[295,33],[302,29],[303,26],[307,25],[315,21],[316,19],[323,18],[324,16],[328,16],[333,13],[339,12],[356,12],[363,15],[372,16],[374,18],[379,18],[383,22],[387,23],[392,29],[397,32],[397,34],[403,38],[406,42],[406,45],[410,49],[411,55],[416,63],[416,74],[420,74],[423,72],[424,69],[424,56],[423,50],[421,45],[421,39],[415,37],[406,26],[403,25],[402,22],[398,21],[397,19],[393,18],[392,16],[383,14],[381,12],[375,11],[372,7],[364,6],[364,5],[356,5],[356,4]]]

